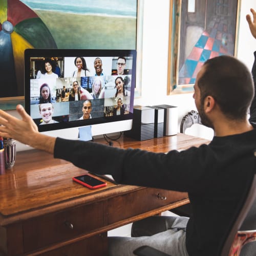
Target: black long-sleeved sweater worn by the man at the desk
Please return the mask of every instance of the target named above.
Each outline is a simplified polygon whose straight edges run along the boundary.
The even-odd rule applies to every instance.
[[[250,113],[254,122],[255,98]],[[97,174],[111,174],[121,184],[187,191],[193,210],[186,229],[188,254],[215,256],[252,181],[255,149],[256,129],[168,154],[57,138],[54,157]]]

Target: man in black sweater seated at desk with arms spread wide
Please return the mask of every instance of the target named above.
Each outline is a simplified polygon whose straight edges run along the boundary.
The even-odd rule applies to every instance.
[[[246,18],[256,38],[256,12],[251,12],[253,22],[249,15]],[[212,127],[215,136],[208,144],[181,152],[123,150],[50,137],[38,132],[22,105],[16,107],[22,119],[0,110],[0,136],[14,138],[90,172],[110,174],[121,184],[188,192],[193,214],[185,225],[179,216],[150,217],[132,230],[137,231],[133,232],[136,237],[109,237],[108,255],[133,255],[139,246],[151,245],[171,255],[216,256],[255,173],[256,52],[252,75],[254,86],[250,71],[232,56],[222,55],[204,63],[197,74],[193,98],[202,123]]]

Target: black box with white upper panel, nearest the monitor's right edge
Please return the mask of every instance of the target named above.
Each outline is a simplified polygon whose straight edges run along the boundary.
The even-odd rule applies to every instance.
[[[124,135],[136,140],[154,138],[155,110],[147,106],[135,105],[133,109],[132,130],[125,131]]]

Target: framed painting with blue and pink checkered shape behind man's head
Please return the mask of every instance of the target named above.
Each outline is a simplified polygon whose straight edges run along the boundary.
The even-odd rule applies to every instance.
[[[203,63],[237,56],[240,0],[170,0],[167,94],[193,92]]]

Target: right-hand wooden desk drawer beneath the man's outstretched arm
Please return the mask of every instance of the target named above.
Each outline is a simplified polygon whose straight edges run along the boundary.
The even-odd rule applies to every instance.
[[[108,224],[187,198],[187,193],[144,188],[108,201]]]

